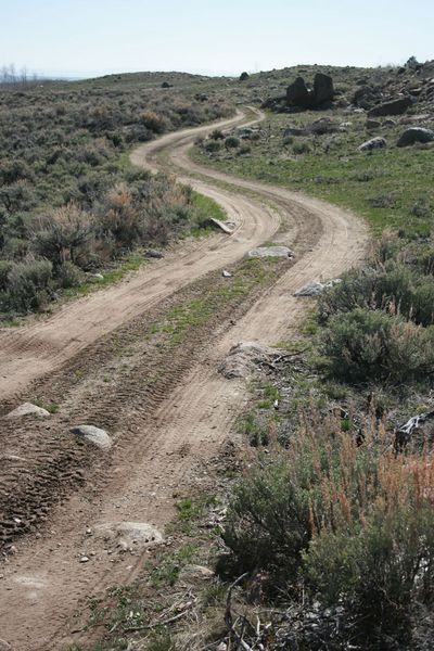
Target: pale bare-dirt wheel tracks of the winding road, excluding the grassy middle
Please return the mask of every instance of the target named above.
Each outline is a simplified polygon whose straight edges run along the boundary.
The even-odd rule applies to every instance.
[[[230,123],[241,119],[238,116]],[[209,459],[227,439],[247,399],[242,382],[225,380],[217,373],[229,347],[239,341],[276,343],[288,337],[307,305],[293,297],[294,290],[321,276],[341,273],[362,255],[366,230],[352,215],[279,188],[233,179],[191,163],[187,149],[197,132],[205,130],[174,133],[140,148],[135,161],[156,167],[161,153],[167,149],[170,166],[182,168],[184,176],[201,175],[193,179],[194,186],[228,209],[230,219],[239,225],[237,232],[230,238],[216,237],[192,245],[182,253],[183,257],[174,253],[173,258],[143,269],[126,283],[65,306],[51,319],[17,332],[3,332],[0,365],[5,369],[1,374],[7,378],[1,390],[9,396],[17,392],[24,395],[23,388],[31,380],[47,373],[48,378],[53,373],[61,383],[63,374],[71,371],[66,366],[71,356],[85,365],[90,359],[97,363],[99,358],[90,358],[89,354],[92,341],[125,320],[133,321],[143,315],[144,319],[152,306],[167,298],[175,288],[228,266],[265,240],[278,239],[295,247],[296,263],[235,322],[222,316],[220,327],[209,332],[208,341],[192,347],[194,363],[190,360],[177,366],[174,359],[174,373],[178,376],[167,392],[155,397],[155,409],[150,410],[146,403],[129,401],[131,388],[125,384],[128,373],[118,372],[106,403],[106,424],[110,427],[111,419],[116,423],[116,445],[110,464],[99,461],[100,472],[90,474],[82,489],[44,513],[49,519],[40,537],[18,540],[16,553],[0,566],[0,638],[13,643],[17,651],[60,650],[68,643],[86,641],[79,618],[72,618],[77,608],[79,611],[80,600],[107,585],[128,583],[140,573],[146,558],[146,552],[107,553],[106,544],[87,535],[87,528],[94,532],[99,524],[131,521],[164,527],[174,513],[174,496],[182,495],[190,484],[201,485]],[[237,190],[214,187],[213,179],[254,190],[266,203]],[[115,332],[117,340],[127,336],[124,330]],[[188,349],[184,355],[189,355]],[[123,362],[127,363],[127,357]],[[11,375],[15,372],[17,380]],[[71,424],[71,416],[86,412],[92,400],[102,401],[105,409],[104,396],[103,384],[94,380],[84,387],[74,385],[65,393],[63,414],[54,418],[51,427]],[[116,421],[112,416],[115,411]],[[42,429],[38,433],[43,436]],[[31,437],[30,430],[24,434]],[[12,442],[13,432],[10,435],[8,441]],[[12,444],[9,451],[16,454]],[[22,454],[27,460],[24,472],[28,472],[30,452],[23,449]],[[87,554],[89,562],[80,563],[80,554]]]

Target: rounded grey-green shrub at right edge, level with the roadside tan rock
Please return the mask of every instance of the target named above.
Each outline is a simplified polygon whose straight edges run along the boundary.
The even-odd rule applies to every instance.
[[[337,314],[321,334],[331,373],[349,382],[429,380],[433,373],[434,327],[357,308]]]

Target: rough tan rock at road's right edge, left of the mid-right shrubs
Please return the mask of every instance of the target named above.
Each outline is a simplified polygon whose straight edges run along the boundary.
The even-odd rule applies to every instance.
[[[218,371],[227,380],[248,378],[258,366],[264,362],[269,363],[280,355],[283,355],[283,352],[278,348],[270,348],[255,342],[241,342],[232,346]]]

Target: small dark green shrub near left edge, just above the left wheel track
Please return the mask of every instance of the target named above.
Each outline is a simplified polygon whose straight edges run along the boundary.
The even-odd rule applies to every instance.
[[[52,264],[49,260],[20,263],[9,273],[10,307],[20,312],[38,311],[51,297]]]

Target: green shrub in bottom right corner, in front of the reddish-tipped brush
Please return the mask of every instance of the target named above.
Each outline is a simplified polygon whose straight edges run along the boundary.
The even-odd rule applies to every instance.
[[[371,635],[409,627],[413,602],[432,603],[434,509],[405,505],[314,536],[304,554],[307,584],[324,605],[340,603]]]

